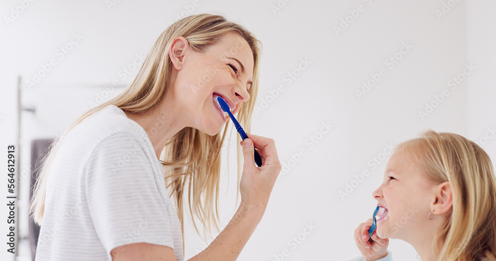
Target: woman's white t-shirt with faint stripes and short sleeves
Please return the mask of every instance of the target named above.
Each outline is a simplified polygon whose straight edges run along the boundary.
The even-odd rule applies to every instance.
[[[138,242],[171,247],[184,260],[150,139],[109,105],[72,129],[54,158],[36,261],[109,261],[114,248]]]

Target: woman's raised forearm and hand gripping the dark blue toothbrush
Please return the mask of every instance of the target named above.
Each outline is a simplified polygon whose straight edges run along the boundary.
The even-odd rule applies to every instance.
[[[235,261],[265,212],[270,193],[281,171],[281,163],[274,140],[249,133],[247,135],[248,139],[242,142],[245,164],[240,184],[240,207],[215,240],[189,261]],[[253,147],[262,157],[260,167],[255,165]]]

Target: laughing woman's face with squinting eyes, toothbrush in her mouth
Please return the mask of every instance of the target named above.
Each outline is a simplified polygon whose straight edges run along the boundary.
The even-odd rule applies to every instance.
[[[175,99],[189,127],[215,135],[229,116],[214,99],[221,96],[233,114],[249,100],[253,54],[248,42],[232,32],[204,53],[194,52],[188,45],[184,52],[184,66],[176,71]]]

